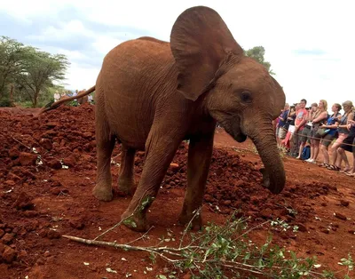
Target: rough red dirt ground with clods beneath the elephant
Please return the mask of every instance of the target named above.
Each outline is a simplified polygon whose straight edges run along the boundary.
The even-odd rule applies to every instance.
[[[130,198],[115,195],[113,202],[101,203],[91,195],[96,175],[91,105],[63,106],[39,118],[34,113],[20,108],[0,110],[1,278],[125,278],[128,273],[131,278],[155,278],[164,274],[169,265],[162,260],[153,265],[144,252],[86,246],[60,237],[98,236],[120,220]],[[340,271],[342,278],[343,267],[337,263],[355,251],[355,180],[285,156],[287,185],[280,195],[272,195],[261,187],[262,163],[250,141],[239,144],[217,129],[215,142],[202,209],[205,223],[221,224],[234,209],[251,217],[249,227],[265,219],[285,219],[299,231],[272,229],[272,242],[300,257],[317,256],[322,267]],[[34,147],[43,164],[36,162]],[[149,239],[136,244],[159,243],[168,229],[178,239],[184,229],[176,224],[185,194],[186,152],[182,144],[173,161],[178,167],[168,171],[148,214],[154,226]],[[116,147],[114,181],[119,153]],[[137,181],[143,156],[138,153],[136,158]],[[68,169],[62,168],[60,160]],[[290,214],[287,208],[298,213]],[[250,238],[264,243],[270,230],[269,224],[257,227]],[[103,240],[129,243],[140,235],[117,227]],[[108,273],[106,267],[117,274]],[[183,277],[189,276],[179,275]]]

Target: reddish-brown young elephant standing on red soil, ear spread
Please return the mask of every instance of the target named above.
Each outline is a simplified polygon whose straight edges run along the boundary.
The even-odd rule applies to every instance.
[[[146,211],[182,140],[189,140],[189,147],[179,221],[193,218],[202,203],[217,123],[239,142],[247,136],[253,140],[265,167],[264,187],[274,194],[284,187],[272,120],[280,115],[285,94],[264,66],[244,56],[214,10],[187,9],[172,27],[170,43],[141,37],[119,44],[106,55],[95,87],[77,97],[93,90],[98,152],[93,195],[101,201],[113,198],[115,140],[122,143],[118,187],[127,195],[135,153],[146,154],[138,187],[122,214],[127,227],[147,229]],[[201,226],[201,215],[193,222]]]

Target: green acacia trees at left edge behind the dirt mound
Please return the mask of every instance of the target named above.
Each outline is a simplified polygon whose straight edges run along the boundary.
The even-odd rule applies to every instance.
[[[30,101],[47,96],[56,82],[65,79],[69,62],[62,54],[42,52],[6,36],[0,37],[0,100],[8,99],[14,87],[14,99]]]

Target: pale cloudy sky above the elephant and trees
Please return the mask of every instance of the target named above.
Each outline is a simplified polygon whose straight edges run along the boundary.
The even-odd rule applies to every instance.
[[[66,54],[66,87],[89,89],[114,46],[139,36],[169,41],[177,16],[195,5],[215,9],[244,49],[264,46],[289,104],[355,103],[351,0],[0,0],[0,36]]]

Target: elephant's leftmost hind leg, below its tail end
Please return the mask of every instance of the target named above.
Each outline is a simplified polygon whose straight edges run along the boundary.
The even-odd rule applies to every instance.
[[[92,194],[100,201],[108,202],[113,198],[111,155],[114,150],[115,139],[100,112],[97,113],[96,119],[96,142],[98,160],[97,178],[96,186],[92,189]]]

